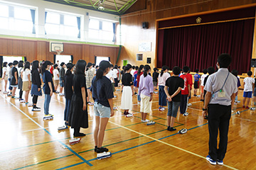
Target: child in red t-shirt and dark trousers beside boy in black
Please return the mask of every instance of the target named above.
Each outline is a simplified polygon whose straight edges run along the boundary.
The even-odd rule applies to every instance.
[[[180,111],[181,114],[184,116],[188,115],[187,109],[188,109],[188,97],[191,96],[191,79],[188,76],[189,67],[184,66],[183,67],[183,74],[181,75],[181,78],[184,80],[184,88],[181,89],[181,107]]]

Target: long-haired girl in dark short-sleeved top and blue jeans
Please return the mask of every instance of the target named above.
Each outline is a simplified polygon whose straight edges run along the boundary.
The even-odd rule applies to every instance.
[[[51,62],[46,61],[46,62],[43,62],[41,67],[42,74],[43,74],[43,83],[44,83],[43,92],[45,94],[45,101],[43,106],[45,117],[53,116],[49,114],[50,98],[51,96],[53,96],[53,93],[55,92],[54,85],[53,85],[53,78],[50,74],[50,66],[51,66]]]

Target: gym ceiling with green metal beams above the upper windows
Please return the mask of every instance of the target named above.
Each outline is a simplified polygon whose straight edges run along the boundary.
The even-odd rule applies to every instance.
[[[115,15],[122,15],[128,8],[130,8],[137,0],[44,0],[55,2],[58,4],[65,4],[69,6],[76,6],[80,8],[87,8],[94,11],[104,13],[112,13]],[[99,10],[98,6],[102,1],[105,10]]]

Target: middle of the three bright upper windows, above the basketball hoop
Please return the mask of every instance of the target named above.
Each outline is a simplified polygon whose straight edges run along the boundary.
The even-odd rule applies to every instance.
[[[47,11],[46,34],[78,38],[78,16]]]

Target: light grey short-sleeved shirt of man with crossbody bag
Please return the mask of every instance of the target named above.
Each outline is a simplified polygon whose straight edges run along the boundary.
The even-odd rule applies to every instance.
[[[231,105],[231,96],[238,92],[238,78],[231,73],[228,75],[228,72],[228,69],[221,68],[218,69],[218,72],[215,72],[208,77],[204,89],[212,94],[210,104],[220,104],[224,106]],[[225,82],[227,77],[228,79]],[[224,82],[225,85],[223,86]],[[225,97],[220,97],[218,95],[222,86],[223,91],[225,92]]]

